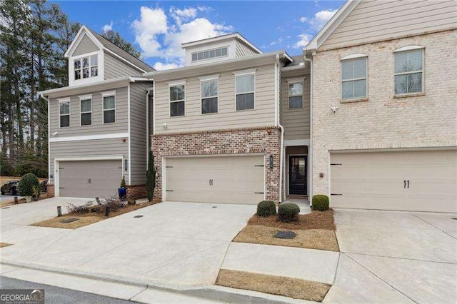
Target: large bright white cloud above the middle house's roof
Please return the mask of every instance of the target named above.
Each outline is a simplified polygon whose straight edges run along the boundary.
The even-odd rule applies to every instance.
[[[171,69],[184,65],[184,50],[181,44],[207,39],[233,30],[232,26],[212,23],[199,17],[199,11],[208,11],[207,6],[177,9],[171,7],[169,16],[163,9],[141,7],[141,17],[132,23],[136,42],[144,57],[161,57],[165,63],[157,63],[155,69]]]

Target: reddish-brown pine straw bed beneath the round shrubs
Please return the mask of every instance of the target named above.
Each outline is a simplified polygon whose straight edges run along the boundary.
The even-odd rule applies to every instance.
[[[276,216],[261,217],[254,214],[248,221],[248,225],[261,225],[281,229],[330,229],[336,230],[333,221],[333,210],[313,211],[308,214],[299,214],[298,221],[283,223]]]

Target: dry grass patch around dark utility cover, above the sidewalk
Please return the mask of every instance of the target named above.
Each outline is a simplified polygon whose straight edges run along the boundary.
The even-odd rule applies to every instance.
[[[338,242],[336,241],[336,235],[333,230],[291,229],[290,231],[296,233],[295,238],[291,239],[275,238],[274,235],[276,235],[279,230],[283,229],[247,225],[240,231],[240,233],[238,233],[238,235],[236,235],[233,242],[339,251]]]

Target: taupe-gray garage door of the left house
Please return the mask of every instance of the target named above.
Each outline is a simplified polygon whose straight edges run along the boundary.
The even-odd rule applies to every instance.
[[[121,184],[122,162],[61,161],[59,196],[96,198],[114,196]]]

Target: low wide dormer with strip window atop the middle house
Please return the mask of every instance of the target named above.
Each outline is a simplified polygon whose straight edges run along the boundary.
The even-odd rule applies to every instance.
[[[186,66],[210,64],[262,53],[239,33],[188,42],[181,46],[186,51]]]

